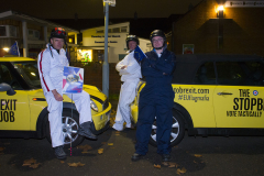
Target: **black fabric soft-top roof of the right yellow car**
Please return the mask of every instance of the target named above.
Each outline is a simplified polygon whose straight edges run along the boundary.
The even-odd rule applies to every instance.
[[[185,54],[176,55],[174,84],[193,84],[198,68],[207,62],[264,62],[262,56],[239,54]]]

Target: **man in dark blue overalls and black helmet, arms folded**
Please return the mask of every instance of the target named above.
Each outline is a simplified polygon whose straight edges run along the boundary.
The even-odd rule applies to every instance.
[[[132,161],[139,161],[148,150],[152,124],[156,118],[157,153],[164,162],[170,161],[170,131],[174,91],[172,87],[176,56],[167,51],[166,36],[161,30],[151,33],[153,51],[141,63],[145,87],[140,94],[136,144]]]

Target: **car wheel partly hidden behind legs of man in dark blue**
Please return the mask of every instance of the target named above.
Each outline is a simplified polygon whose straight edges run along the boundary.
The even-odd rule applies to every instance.
[[[156,120],[152,124],[152,133],[150,144],[153,146],[157,146],[156,144]],[[175,146],[180,143],[185,135],[185,123],[183,120],[183,116],[180,112],[173,110],[173,124],[170,132],[170,146]]]

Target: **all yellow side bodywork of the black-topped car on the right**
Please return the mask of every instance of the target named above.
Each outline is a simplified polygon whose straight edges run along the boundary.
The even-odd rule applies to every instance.
[[[255,96],[255,87],[249,86],[173,85],[173,89],[174,102],[188,110],[194,128],[263,128],[264,99],[260,96],[264,95],[262,87]],[[228,95],[221,96],[219,92]],[[135,123],[139,97],[140,92],[130,107]]]

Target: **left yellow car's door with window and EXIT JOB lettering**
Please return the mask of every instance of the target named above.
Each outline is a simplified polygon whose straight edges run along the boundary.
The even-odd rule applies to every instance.
[[[28,92],[19,90],[20,85],[8,64],[0,63],[0,84],[14,88],[15,95],[0,91],[0,130],[30,130],[30,108]]]

